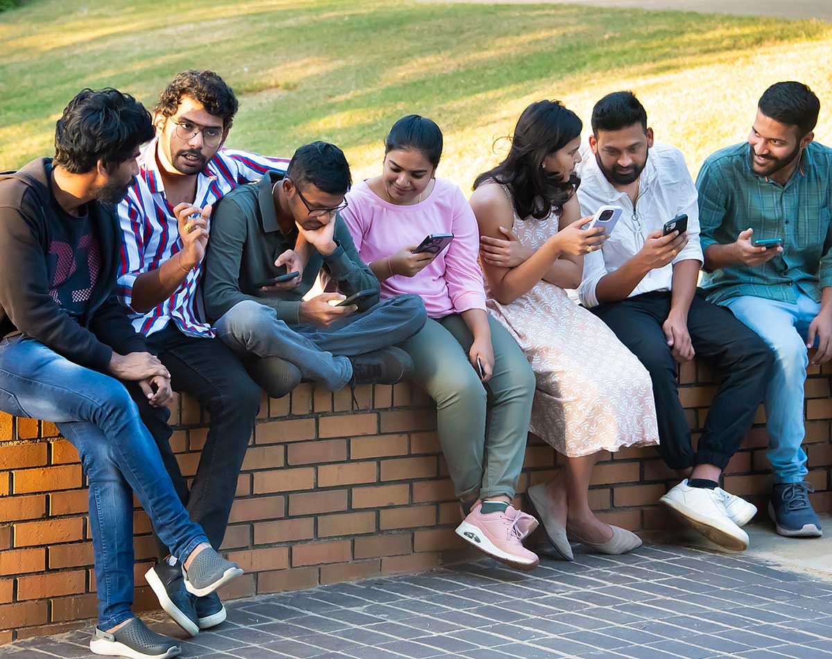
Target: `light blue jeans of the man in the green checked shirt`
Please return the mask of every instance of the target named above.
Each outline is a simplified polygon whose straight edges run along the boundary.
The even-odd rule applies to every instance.
[[[765,389],[769,458],[775,483],[800,483],[806,475],[804,384],[809,356],[806,334],[820,305],[798,294],[797,303],[742,295],[721,302],[775,352],[775,366]]]

